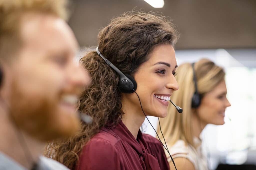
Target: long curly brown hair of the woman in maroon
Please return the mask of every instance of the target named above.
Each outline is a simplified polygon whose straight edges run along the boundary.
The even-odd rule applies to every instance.
[[[134,75],[148,54],[160,44],[174,46],[179,37],[170,19],[154,12],[126,12],[114,18],[101,29],[98,35],[99,49],[103,56],[125,74]],[[80,98],[79,111],[92,117],[93,122],[81,122],[81,130],[65,141],[54,141],[47,146],[45,155],[55,159],[70,169],[79,161],[84,145],[102,127],[115,127],[124,112],[122,94],[118,88],[119,76],[96,51],[87,53],[80,59],[91,77],[91,85]]]

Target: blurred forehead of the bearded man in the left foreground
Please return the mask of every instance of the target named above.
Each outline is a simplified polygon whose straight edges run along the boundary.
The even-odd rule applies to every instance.
[[[35,50],[66,50],[75,53],[76,38],[67,23],[47,14],[25,14],[20,21],[23,46]]]

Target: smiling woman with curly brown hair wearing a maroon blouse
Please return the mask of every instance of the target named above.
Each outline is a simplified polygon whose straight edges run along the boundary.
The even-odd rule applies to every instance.
[[[80,60],[92,82],[79,111],[93,121],[82,123],[71,139],[52,143],[47,155],[71,169],[169,169],[161,143],[140,131],[145,120],[140,102],[146,115],[167,115],[168,99],[178,89],[177,38],[173,24],[154,13],[130,12],[113,19],[100,31],[97,51]],[[134,77],[137,94],[121,92],[119,74],[103,58]]]

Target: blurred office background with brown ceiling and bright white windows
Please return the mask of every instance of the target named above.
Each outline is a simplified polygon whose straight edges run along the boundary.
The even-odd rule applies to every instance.
[[[97,45],[99,29],[125,11],[161,11],[173,19],[181,33],[176,44],[178,64],[209,58],[226,71],[232,104],[226,124],[208,125],[202,132],[210,168],[256,169],[256,1],[152,2],[163,7],[154,8],[144,0],[73,0],[69,24],[80,46],[89,47]],[[156,119],[150,120],[156,127]],[[147,121],[145,125],[145,132],[155,136]]]

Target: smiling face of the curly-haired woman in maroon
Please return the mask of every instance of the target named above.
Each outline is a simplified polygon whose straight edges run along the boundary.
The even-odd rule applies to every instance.
[[[165,117],[170,103],[169,98],[173,91],[179,88],[175,79],[175,51],[171,45],[159,45],[148,57],[149,59],[134,74],[137,82],[136,92],[146,115]],[[130,111],[142,113],[135,93],[123,94],[123,99],[126,104],[129,102]]]

